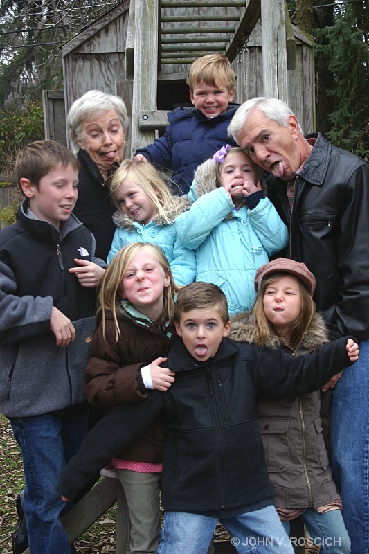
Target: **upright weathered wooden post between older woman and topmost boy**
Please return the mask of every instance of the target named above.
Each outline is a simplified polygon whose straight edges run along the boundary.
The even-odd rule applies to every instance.
[[[132,99],[132,155],[154,141],[154,131],[142,132],[142,109],[156,109],[158,73],[158,0],[134,0],[134,82]]]

